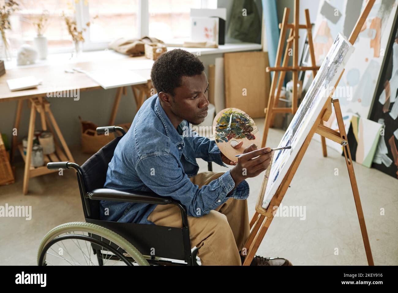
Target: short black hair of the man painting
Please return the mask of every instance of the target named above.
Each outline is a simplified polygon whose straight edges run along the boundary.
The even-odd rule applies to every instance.
[[[158,93],[174,96],[174,89],[181,86],[181,77],[201,75],[204,70],[205,66],[198,57],[185,50],[174,49],[156,59],[150,77]]]

